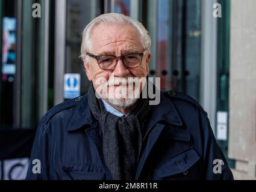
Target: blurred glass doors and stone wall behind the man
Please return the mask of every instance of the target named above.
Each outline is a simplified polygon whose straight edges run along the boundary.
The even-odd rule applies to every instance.
[[[24,179],[39,119],[86,93],[80,34],[110,12],[143,23],[149,76],[199,101],[234,178],[256,179],[255,0],[0,0],[0,179]]]

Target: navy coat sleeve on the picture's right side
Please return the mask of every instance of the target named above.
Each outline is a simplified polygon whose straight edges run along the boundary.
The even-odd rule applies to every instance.
[[[207,118],[204,124],[204,178],[233,180],[233,174],[228,163],[216,142],[210,121]]]

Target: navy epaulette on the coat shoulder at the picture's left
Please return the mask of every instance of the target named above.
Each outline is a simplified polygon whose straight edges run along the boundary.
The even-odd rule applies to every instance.
[[[69,109],[71,107],[76,106],[78,101],[80,101],[83,98],[83,96],[73,98],[71,100],[64,101],[60,104],[57,104],[57,106],[52,107],[45,115],[42,117],[41,123],[47,124],[49,120],[57,113],[61,112],[62,110]]]

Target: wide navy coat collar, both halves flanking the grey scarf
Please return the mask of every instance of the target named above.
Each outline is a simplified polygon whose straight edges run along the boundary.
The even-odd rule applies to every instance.
[[[149,124],[153,125],[159,121],[165,121],[168,124],[183,126],[183,121],[181,120],[181,117],[173,102],[170,100],[170,98],[168,98],[164,91],[161,91],[160,95],[160,103],[151,107],[151,119]],[[64,130],[78,130],[84,125],[91,127],[93,124],[95,124],[95,121],[96,120],[90,111],[87,94],[85,94],[81,101],[73,109]]]

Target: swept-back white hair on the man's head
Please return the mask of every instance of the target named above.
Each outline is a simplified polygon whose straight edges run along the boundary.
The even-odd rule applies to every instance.
[[[124,16],[120,13],[106,13],[101,14],[100,16],[96,17],[95,19],[90,22],[86,28],[84,28],[82,32],[82,43],[81,43],[81,58],[86,59],[86,53],[91,52],[92,50],[92,38],[91,33],[95,26],[104,23],[109,26],[111,25],[131,25],[137,31],[139,31],[140,38],[142,41],[142,45],[146,52],[150,53],[151,47],[151,38],[149,37],[148,31],[145,27],[137,20],[132,19],[131,17]]]

